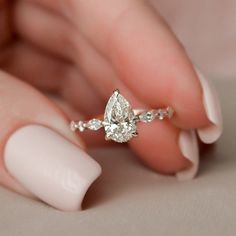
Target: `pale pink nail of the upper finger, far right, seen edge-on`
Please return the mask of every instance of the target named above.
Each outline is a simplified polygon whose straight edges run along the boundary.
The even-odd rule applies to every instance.
[[[211,125],[198,129],[199,138],[203,143],[214,143],[222,134],[222,114],[218,95],[214,86],[196,69],[203,90],[203,104]]]

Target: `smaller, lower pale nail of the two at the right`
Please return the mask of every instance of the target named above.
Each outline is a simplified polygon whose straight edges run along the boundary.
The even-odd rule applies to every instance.
[[[199,149],[197,137],[194,130],[182,130],[179,134],[179,148],[182,155],[188,159],[192,165],[176,173],[179,180],[188,180],[196,176],[199,165]]]

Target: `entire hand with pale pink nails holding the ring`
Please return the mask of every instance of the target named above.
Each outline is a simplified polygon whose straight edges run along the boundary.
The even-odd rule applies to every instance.
[[[137,156],[161,173],[195,175],[194,130],[205,143],[222,131],[217,96],[147,1],[19,0],[0,9],[2,185],[77,210],[100,174],[85,143],[101,145],[104,134],[79,137],[68,121],[103,113],[116,88],[134,108],[176,112],[139,125],[129,143]]]

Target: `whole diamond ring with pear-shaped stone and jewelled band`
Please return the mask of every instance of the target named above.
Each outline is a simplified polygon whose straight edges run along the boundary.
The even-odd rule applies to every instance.
[[[107,102],[103,120],[93,118],[88,121],[71,121],[70,129],[83,132],[86,129],[97,131],[104,128],[106,140],[123,143],[138,136],[138,122],[170,119],[173,114],[174,110],[169,106],[152,110],[132,109],[130,103],[116,89]]]

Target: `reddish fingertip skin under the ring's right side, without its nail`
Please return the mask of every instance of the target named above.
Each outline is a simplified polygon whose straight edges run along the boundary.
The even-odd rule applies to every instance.
[[[156,121],[140,126],[139,136],[130,142],[130,146],[147,166],[172,175],[191,165],[181,153],[178,145],[179,131],[172,124]]]

